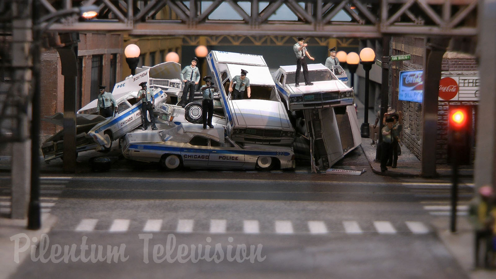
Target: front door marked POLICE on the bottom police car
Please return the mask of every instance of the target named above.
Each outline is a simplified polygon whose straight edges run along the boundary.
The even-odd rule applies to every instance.
[[[243,149],[230,141],[219,142],[210,139],[210,156],[208,166],[222,168],[240,168],[245,164]]]

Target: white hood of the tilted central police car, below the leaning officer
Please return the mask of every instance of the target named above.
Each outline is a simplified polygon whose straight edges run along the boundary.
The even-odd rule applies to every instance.
[[[232,100],[234,117],[240,126],[291,129],[288,115],[281,102],[268,100]]]

